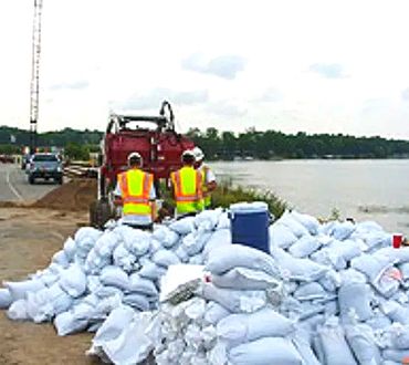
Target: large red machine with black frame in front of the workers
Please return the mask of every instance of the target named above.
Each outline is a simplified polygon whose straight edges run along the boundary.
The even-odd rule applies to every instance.
[[[175,115],[166,101],[158,116],[112,114],[102,142],[98,200],[91,207],[91,223],[102,227],[112,217],[111,195],[117,175],[127,168],[130,153],[138,152],[143,156],[143,168],[154,174],[159,194],[159,180],[168,179],[172,170],[179,169],[182,152],[193,147],[189,138],[176,133]]]

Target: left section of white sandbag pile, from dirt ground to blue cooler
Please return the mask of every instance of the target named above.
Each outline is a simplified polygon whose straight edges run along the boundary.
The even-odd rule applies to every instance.
[[[120,304],[138,312],[157,309],[160,278],[169,265],[202,263],[211,247],[230,243],[221,209],[158,225],[154,232],[120,222],[108,227],[81,228],[45,270],[27,281],[4,282],[0,307],[9,307],[12,320],[53,321],[59,335],[94,332]]]

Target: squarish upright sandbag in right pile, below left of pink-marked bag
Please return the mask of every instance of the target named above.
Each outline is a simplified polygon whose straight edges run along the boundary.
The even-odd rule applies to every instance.
[[[367,321],[373,315],[370,306],[373,295],[368,284],[360,282],[345,283],[338,291],[339,312],[343,316],[354,310],[359,321]]]

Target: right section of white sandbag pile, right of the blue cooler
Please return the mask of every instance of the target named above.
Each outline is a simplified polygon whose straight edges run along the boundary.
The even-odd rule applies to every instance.
[[[280,312],[298,321],[295,344],[306,364],[401,363],[409,355],[409,343],[385,341],[409,324],[409,248],[394,249],[375,222],[319,225],[295,211],[270,234],[286,293]]]

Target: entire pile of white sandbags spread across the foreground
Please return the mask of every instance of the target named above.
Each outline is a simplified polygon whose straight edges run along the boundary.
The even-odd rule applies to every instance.
[[[227,213],[206,211],[153,233],[80,229],[50,267],[4,283],[11,319],[97,331],[90,353],[115,364],[401,364],[409,358],[409,248],[369,221],[286,211],[271,255],[230,246]],[[175,264],[203,278],[159,303]],[[186,295],[185,295],[186,294]]]

